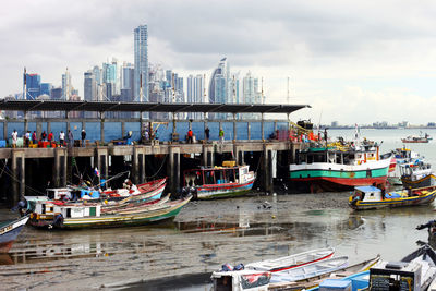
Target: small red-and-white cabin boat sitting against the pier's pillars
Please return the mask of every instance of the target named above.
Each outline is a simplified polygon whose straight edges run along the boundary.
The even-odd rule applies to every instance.
[[[249,166],[235,166],[225,161],[222,167],[202,167],[184,171],[183,191],[194,198],[211,199],[246,194],[253,187],[256,175]]]

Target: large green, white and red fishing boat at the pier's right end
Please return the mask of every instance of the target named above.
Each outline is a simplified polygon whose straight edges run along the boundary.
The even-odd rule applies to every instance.
[[[338,142],[299,151],[295,162],[289,166],[290,181],[308,185],[311,192],[316,186],[335,191],[384,184],[390,163],[391,154],[382,156],[377,143]]]

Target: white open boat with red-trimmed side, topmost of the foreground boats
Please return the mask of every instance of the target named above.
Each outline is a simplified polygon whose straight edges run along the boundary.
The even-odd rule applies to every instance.
[[[283,271],[330,258],[334,254],[335,248],[332,247],[312,250],[290,256],[251,263],[245,266],[245,269]]]

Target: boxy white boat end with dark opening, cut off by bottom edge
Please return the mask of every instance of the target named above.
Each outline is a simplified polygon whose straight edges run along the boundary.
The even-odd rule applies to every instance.
[[[234,270],[214,271],[214,291],[267,291],[271,274],[269,271]]]

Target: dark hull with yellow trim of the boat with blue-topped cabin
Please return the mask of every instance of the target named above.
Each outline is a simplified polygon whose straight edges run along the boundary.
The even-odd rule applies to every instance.
[[[364,209],[377,209],[377,208],[390,208],[390,207],[404,207],[404,206],[417,206],[431,204],[436,197],[436,190],[431,191],[427,194],[412,196],[412,197],[399,197],[399,198],[385,198],[382,201],[359,201],[352,203],[350,197],[350,207],[355,210]]]

